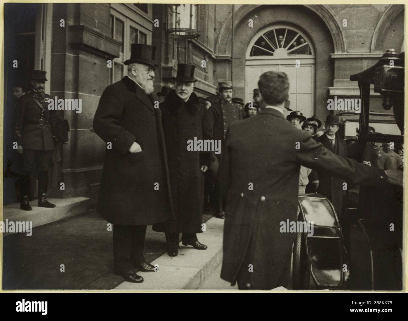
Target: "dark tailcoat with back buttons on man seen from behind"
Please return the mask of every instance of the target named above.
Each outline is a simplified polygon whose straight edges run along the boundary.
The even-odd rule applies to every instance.
[[[287,219],[297,221],[300,165],[358,184],[386,181],[384,170],[333,154],[269,108],[231,124],[224,152],[218,176],[228,191],[221,278],[234,285],[239,272],[253,289],[287,286],[282,276],[289,271],[296,233],[279,229]]]

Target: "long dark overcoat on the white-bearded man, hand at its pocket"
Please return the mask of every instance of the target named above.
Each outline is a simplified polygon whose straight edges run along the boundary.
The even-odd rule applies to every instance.
[[[106,149],[97,212],[109,223],[151,225],[171,215],[160,119],[160,109],[127,76],[102,93],[93,128],[111,149]],[[141,152],[129,152],[133,142]]]

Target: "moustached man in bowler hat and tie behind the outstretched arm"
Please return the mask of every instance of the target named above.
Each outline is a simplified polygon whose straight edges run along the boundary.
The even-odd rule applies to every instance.
[[[336,136],[341,121],[337,115],[327,115],[325,122],[325,134],[315,138],[317,142],[322,143],[324,147],[334,154],[346,158],[347,144],[344,140]],[[346,196],[344,179],[332,176],[327,171],[318,170],[319,187],[317,192],[326,196],[333,204],[337,216],[341,217],[343,207],[343,197]]]

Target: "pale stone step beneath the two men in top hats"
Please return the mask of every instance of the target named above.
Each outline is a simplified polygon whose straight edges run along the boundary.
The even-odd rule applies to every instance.
[[[158,265],[157,272],[138,272],[143,283],[123,282],[115,290],[195,290],[205,282],[222,262],[222,234],[224,220],[210,218],[206,231],[197,234],[198,240],[207,245],[206,250],[179,245],[178,256],[167,253],[151,262]]]

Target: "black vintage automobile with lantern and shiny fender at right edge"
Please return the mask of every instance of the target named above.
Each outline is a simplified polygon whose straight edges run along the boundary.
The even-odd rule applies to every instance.
[[[350,80],[358,81],[361,97],[360,114],[342,115],[342,136],[356,140],[352,157],[363,163],[373,142],[403,148],[404,53],[389,49]],[[370,112],[370,85],[393,114]],[[341,222],[326,197],[299,195],[299,221],[313,221],[315,232],[299,233],[293,246],[294,289],[402,289],[402,188],[357,186],[352,191]]]

